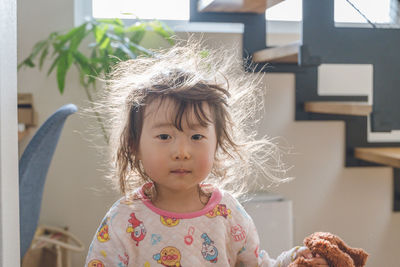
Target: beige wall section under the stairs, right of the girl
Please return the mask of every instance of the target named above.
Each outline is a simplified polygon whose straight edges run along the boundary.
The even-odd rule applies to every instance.
[[[330,231],[370,254],[367,266],[398,266],[400,214],[393,213],[391,168],[343,168],[343,122],[294,122],[294,77],[269,77],[265,132],[294,146],[297,179],[275,191],[293,200],[295,242]]]

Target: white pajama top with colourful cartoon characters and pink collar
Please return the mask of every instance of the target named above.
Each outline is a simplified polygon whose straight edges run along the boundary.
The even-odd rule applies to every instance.
[[[192,213],[158,209],[143,187],[130,199],[121,198],[96,231],[85,266],[284,267],[294,261],[298,247],[271,259],[260,249],[242,205],[227,192],[208,190],[212,194],[206,206]]]

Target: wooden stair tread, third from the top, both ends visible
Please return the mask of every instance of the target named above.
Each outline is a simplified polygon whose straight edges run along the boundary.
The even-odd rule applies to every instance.
[[[368,116],[372,112],[372,105],[365,102],[313,101],[304,103],[304,110],[313,113]]]

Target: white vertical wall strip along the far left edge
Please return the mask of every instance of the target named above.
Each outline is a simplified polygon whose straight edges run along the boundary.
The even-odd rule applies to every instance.
[[[16,1],[0,0],[0,266],[19,265]]]

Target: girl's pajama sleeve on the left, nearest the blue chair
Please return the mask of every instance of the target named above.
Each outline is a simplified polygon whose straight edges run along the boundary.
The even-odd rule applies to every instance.
[[[111,209],[103,218],[89,247],[86,267],[128,266],[128,253],[117,234],[118,231],[113,227],[118,220],[116,215],[117,212]]]

